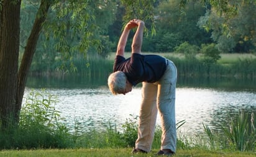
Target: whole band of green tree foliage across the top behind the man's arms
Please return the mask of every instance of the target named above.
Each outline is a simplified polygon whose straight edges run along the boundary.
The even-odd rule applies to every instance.
[[[221,6],[226,5],[219,3]],[[90,52],[107,57],[109,52],[116,50],[122,22],[134,17],[146,20],[146,27],[155,27],[156,34],[149,29],[149,33],[155,35],[144,38],[144,52],[173,52],[181,43],[200,46],[202,43],[212,43],[212,39],[222,52],[254,50],[255,3],[250,5],[247,1],[239,5],[239,14],[232,16],[229,24],[216,12],[207,10],[210,8],[207,2],[203,5],[205,7],[199,1],[172,0],[56,1],[43,24],[31,70],[58,69],[63,73],[79,73],[75,61],[90,55]],[[143,6],[143,11],[140,6]],[[30,34],[37,7],[38,1],[22,1],[21,50]],[[231,27],[235,31],[230,31]],[[130,43],[127,43],[127,50],[130,50]]]

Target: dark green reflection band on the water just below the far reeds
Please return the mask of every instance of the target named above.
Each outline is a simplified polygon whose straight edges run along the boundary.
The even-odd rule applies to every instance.
[[[107,86],[107,74],[103,78],[86,76],[38,77],[30,76],[27,87],[32,88],[97,88]],[[140,84],[139,84],[140,86]],[[178,77],[178,87],[214,88],[225,91],[256,91],[256,79]]]

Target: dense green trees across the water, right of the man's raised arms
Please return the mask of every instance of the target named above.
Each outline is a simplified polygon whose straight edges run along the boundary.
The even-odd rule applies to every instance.
[[[188,42],[198,47],[214,43],[223,53],[255,52],[255,1],[239,0],[238,4],[227,1],[231,6],[236,5],[235,11],[227,8],[229,12],[217,10],[211,2],[188,1],[183,8],[178,7],[179,1],[160,2],[154,8],[156,34],[145,37],[144,51],[173,52],[175,47]],[[118,21],[122,19],[115,22]],[[119,34],[112,33],[111,29],[108,35],[112,37],[111,42],[116,42]],[[111,50],[115,51],[114,47]]]

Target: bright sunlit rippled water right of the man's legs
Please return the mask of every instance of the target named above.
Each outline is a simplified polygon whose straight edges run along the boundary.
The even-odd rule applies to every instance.
[[[191,132],[202,132],[202,123],[218,130],[228,125],[239,110],[256,113],[255,92],[181,88],[177,93],[177,116],[185,117],[186,128]]]

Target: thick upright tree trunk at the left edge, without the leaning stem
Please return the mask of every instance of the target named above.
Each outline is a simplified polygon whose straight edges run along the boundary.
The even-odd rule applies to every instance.
[[[15,115],[21,1],[1,2],[0,128],[6,128]]]

